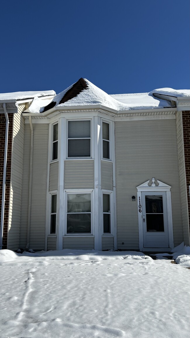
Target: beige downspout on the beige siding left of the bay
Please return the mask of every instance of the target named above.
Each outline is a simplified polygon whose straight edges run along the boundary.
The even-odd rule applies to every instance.
[[[27,244],[26,249],[30,244],[30,216],[31,216],[31,197],[32,197],[32,161],[33,161],[33,127],[31,116],[29,116],[31,139],[30,139],[30,176],[29,176],[29,192],[28,192],[28,224],[27,224]]]

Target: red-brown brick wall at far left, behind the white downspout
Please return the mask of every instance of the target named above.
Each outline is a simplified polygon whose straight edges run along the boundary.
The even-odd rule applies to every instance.
[[[5,211],[3,226],[3,249],[7,248],[7,232],[8,232],[8,211],[10,197],[10,173],[11,173],[11,150],[13,138],[13,114],[8,114],[8,149],[7,149],[7,171],[6,171],[6,189],[5,189]],[[3,166],[4,166],[4,149],[5,149],[5,127],[6,119],[4,114],[0,114],[0,218],[2,205],[2,185],[3,185]]]

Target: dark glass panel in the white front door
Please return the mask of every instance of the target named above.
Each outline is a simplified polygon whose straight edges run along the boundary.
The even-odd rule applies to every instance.
[[[146,231],[164,232],[163,196],[145,196]]]

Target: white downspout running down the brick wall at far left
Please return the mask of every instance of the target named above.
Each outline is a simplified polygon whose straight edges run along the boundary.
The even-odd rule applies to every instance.
[[[6,118],[5,128],[5,151],[4,151],[4,167],[3,167],[3,187],[2,187],[2,204],[1,204],[1,229],[0,229],[0,250],[3,245],[3,223],[4,223],[4,211],[5,211],[5,188],[6,188],[6,166],[7,166],[7,148],[8,148],[8,114],[6,110],[6,103],[3,103],[3,110]]]

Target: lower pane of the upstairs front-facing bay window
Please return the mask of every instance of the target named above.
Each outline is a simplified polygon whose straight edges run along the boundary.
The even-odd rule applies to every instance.
[[[90,157],[90,139],[68,140],[68,157]]]

